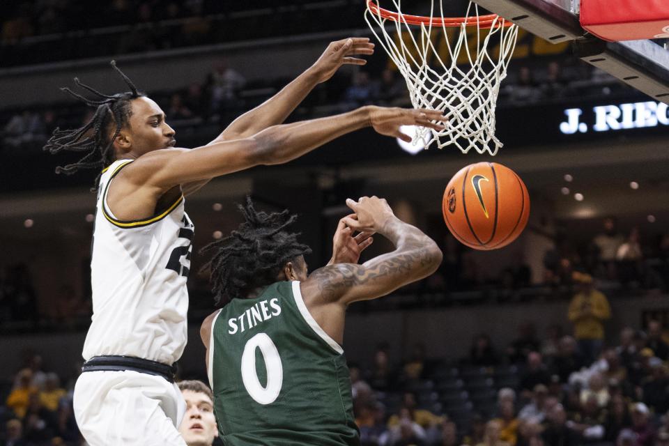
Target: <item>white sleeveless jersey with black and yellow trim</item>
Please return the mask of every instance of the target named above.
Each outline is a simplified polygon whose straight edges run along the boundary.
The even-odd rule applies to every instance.
[[[131,160],[103,171],[93,230],[93,318],[84,359],[125,355],[172,364],[186,345],[194,226],[183,196],[147,220],[119,221],[107,206],[109,183]]]

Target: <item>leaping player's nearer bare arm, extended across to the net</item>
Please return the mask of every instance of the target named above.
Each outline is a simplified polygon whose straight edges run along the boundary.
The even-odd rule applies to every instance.
[[[147,153],[127,172],[135,185],[160,194],[176,185],[230,174],[259,164],[282,164],[322,146],[343,134],[371,125],[380,134],[411,138],[401,125],[420,125],[442,130],[445,121],[435,110],[367,106],[327,118],[275,125],[253,137],[224,141],[196,150],[164,149]],[[129,178],[132,176],[133,178]]]

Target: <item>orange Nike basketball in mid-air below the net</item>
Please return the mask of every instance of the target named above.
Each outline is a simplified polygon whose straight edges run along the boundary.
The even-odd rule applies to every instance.
[[[508,167],[477,162],[451,178],[441,210],[453,236],[474,249],[497,249],[516,240],[530,216],[525,183]]]

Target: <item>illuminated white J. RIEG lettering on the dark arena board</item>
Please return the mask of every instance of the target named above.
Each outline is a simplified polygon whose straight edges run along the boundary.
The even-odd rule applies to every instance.
[[[631,128],[654,128],[669,125],[669,106],[663,102],[631,102],[619,105],[599,105],[592,110],[566,109],[567,121],[560,123],[563,134],[610,132]]]

